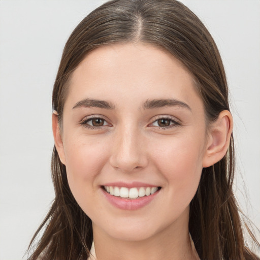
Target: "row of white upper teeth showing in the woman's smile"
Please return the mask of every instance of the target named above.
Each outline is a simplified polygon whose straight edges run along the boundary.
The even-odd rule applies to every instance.
[[[114,187],[114,186],[105,186],[105,189],[111,195],[121,197],[121,198],[130,198],[136,199],[138,197],[149,196],[158,190],[158,187],[140,187],[140,188],[126,188],[126,187]]]

